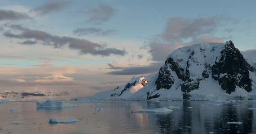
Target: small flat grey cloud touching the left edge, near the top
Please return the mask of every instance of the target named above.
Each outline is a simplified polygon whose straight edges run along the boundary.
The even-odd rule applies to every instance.
[[[0,21],[32,20],[26,13],[0,9]]]

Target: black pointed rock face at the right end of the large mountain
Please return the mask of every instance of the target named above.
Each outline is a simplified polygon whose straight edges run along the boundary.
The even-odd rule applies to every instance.
[[[221,89],[229,94],[235,91],[236,86],[251,92],[249,71],[254,71],[254,67],[247,63],[232,41],[226,42],[220,53],[220,61],[211,67],[212,78],[218,80]]]

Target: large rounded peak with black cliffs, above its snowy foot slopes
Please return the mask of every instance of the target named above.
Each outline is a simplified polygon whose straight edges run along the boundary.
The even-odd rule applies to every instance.
[[[202,43],[183,47],[166,58],[155,87],[147,92],[147,99],[161,96],[160,91],[180,88],[183,100],[189,100],[190,92],[199,90],[206,79],[216,80],[228,94],[238,87],[251,92],[249,71],[254,70],[231,40],[225,44]]]

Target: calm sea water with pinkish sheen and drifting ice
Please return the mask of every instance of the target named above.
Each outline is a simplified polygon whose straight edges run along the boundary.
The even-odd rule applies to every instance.
[[[36,102],[33,101],[0,104],[0,134],[256,133],[256,116],[254,116],[256,102],[67,101],[67,103],[83,105],[70,108],[36,108]],[[172,112],[131,112],[169,106],[179,109],[172,109]],[[78,122],[50,123],[49,117],[60,120],[75,117]]]

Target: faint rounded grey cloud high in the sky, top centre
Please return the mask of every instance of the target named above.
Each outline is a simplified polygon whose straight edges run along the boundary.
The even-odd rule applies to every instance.
[[[87,20],[89,23],[102,24],[108,21],[114,14],[116,10],[111,6],[99,4],[98,8],[91,9],[88,13],[90,14],[90,19]]]

